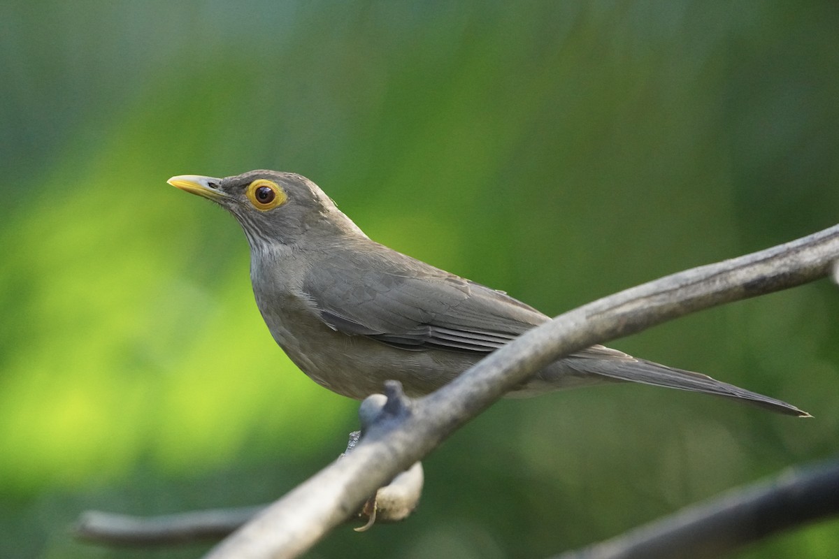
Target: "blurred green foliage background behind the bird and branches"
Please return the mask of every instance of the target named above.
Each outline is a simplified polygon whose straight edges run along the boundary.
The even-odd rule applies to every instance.
[[[69,527],[274,499],[357,426],[269,337],[236,223],[170,176],[305,174],[374,239],[558,314],[836,223],[837,28],[832,0],[0,3],[0,556],[199,556]],[[837,315],[822,281],[613,343],[815,419],[501,401],[428,458],[410,520],[308,556],[546,556],[829,458]],[[737,554],[837,555],[836,521]]]

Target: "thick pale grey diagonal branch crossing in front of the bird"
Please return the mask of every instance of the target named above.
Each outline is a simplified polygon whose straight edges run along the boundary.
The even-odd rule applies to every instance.
[[[839,225],[765,251],[676,273],[560,315],[498,349],[439,391],[388,404],[352,454],[332,463],[222,541],[211,559],[294,557],[369,495],[552,361],[687,313],[795,287],[831,273]]]

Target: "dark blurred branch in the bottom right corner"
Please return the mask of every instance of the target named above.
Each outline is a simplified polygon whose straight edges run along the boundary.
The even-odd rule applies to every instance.
[[[556,559],[710,559],[839,514],[839,461],[735,489],[612,540]]]

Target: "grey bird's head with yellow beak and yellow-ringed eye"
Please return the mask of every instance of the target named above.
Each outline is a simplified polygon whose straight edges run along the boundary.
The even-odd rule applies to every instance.
[[[305,235],[364,235],[317,184],[299,174],[257,170],[226,179],[182,174],[167,182],[229,211],[252,249],[278,241],[293,245]]]

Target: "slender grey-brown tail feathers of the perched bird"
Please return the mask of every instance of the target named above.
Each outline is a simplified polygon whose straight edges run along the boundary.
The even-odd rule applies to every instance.
[[[659,365],[652,361],[633,358],[627,360],[598,360],[597,365],[599,366],[593,368],[594,370],[590,369],[591,372],[610,380],[627,380],[630,382],[640,382],[645,385],[702,392],[742,401],[789,416],[812,417],[806,411],[802,411],[785,401],[763,396],[763,394],[748,391],[739,386],[730,385],[727,382],[720,382],[719,380],[712,379],[708,375],[702,375],[701,373],[695,373],[690,370],[674,369],[667,365]]]

